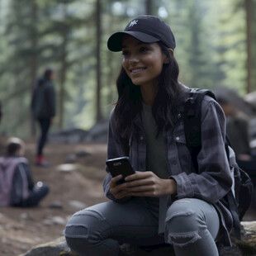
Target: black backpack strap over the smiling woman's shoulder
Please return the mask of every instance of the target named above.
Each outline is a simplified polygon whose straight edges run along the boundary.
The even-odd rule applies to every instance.
[[[192,88],[184,106],[186,144],[196,171],[198,170],[197,155],[201,150],[201,102],[206,95],[216,99],[210,90]]]

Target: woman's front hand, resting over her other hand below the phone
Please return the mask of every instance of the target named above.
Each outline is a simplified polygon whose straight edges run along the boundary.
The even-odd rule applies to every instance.
[[[177,192],[174,179],[159,178],[153,172],[136,172],[126,177],[126,188],[135,197],[161,197]]]

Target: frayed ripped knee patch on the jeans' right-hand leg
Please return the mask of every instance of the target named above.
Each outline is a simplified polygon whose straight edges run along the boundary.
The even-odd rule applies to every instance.
[[[201,239],[194,211],[175,212],[165,220],[165,242],[183,247]]]

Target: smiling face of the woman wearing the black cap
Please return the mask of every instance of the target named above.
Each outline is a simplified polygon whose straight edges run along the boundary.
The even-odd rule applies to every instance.
[[[163,64],[168,63],[157,43],[146,44],[132,36],[122,40],[122,66],[132,83],[140,86],[158,85]]]

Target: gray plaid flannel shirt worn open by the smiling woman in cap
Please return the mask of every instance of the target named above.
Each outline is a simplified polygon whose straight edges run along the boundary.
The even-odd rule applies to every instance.
[[[180,113],[178,114],[179,116]],[[173,130],[164,131],[169,178],[177,182],[175,197],[160,197],[159,234],[164,232],[165,212],[175,199],[198,198],[215,206],[220,216],[219,239],[230,245],[232,216],[220,202],[230,191],[232,178],[225,154],[225,114],[220,105],[211,97],[204,97],[201,105],[201,151],[197,156],[198,172],[192,166],[191,154],[186,146],[183,121]],[[109,120],[107,159],[129,156],[135,170],[146,171],[146,141],[140,115],[134,120],[133,131],[127,140],[121,139],[115,130],[113,111]],[[106,196],[115,200],[110,193],[111,174],[103,182]],[[127,199],[129,200],[129,198]]]

